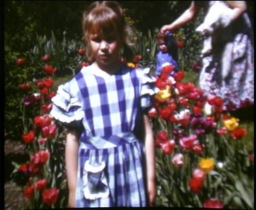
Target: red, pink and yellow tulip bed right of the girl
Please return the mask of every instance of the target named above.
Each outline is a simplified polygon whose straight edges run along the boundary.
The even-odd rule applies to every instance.
[[[223,111],[221,97],[205,97],[183,77],[166,65],[156,78],[159,91],[149,113],[156,136],[155,205],[253,209],[246,128]]]

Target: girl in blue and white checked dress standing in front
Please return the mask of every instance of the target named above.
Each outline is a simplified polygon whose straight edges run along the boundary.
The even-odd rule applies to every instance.
[[[152,205],[154,138],[145,114],[153,80],[121,62],[128,25],[117,2],[92,3],[83,15],[83,31],[91,65],[59,86],[51,111],[63,123],[83,124],[81,135],[66,137],[68,206]]]

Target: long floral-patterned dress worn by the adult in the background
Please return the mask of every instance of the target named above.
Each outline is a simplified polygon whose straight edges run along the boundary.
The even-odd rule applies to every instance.
[[[217,1],[204,2],[207,12]],[[210,44],[212,52],[202,55],[199,87],[206,95],[222,97],[224,110],[237,110],[254,104],[254,41],[248,14],[244,13],[231,23],[228,30],[216,29],[211,37],[212,43],[208,43],[211,39],[205,37],[203,48]],[[231,59],[225,61],[230,62],[231,68],[223,78],[221,60],[226,56],[224,48],[227,43],[231,44]]]

